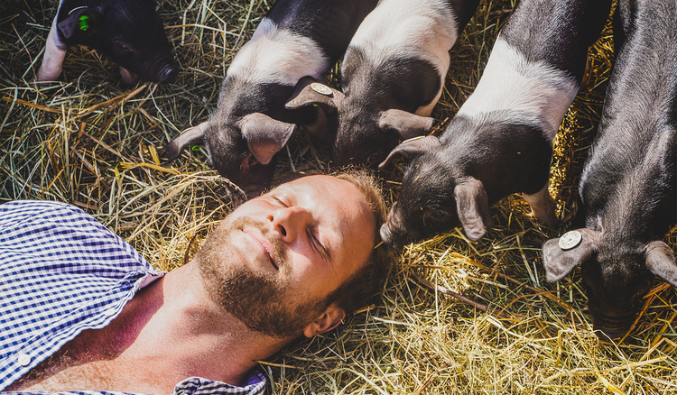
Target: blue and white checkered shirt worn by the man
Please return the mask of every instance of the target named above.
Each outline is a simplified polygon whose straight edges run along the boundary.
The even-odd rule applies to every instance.
[[[138,289],[163,274],[77,207],[0,206],[0,390],[83,330],[107,326]],[[264,376],[253,372],[244,387],[191,377],[174,393],[260,394],[264,387]]]

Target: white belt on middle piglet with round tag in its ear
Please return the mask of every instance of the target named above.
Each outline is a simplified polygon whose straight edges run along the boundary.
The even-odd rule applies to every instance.
[[[431,115],[449,69],[449,51],[457,39],[456,19],[441,3],[382,0],[366,15],[350,41],[350,46],[360,47],[375,67],[395,57],[406,57],[430,61],[437,68],[440,91],[430,105],[419,107],[416,115]]]

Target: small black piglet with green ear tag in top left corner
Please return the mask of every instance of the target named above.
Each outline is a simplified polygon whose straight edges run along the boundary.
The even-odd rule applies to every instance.
[[[59,78],[73,45],[86,45],[116,62],[127,85],[139,78],[168,82],[179,73],[152,0],[61,0],[35,80]]]

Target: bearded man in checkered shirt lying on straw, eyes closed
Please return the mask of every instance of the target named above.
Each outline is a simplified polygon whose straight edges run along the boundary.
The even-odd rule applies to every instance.
[[[79,208],[0,206],[0,390],[261,393],[256,361],[376,292],[384,214],[365,174],[295,179],[162,273]]]

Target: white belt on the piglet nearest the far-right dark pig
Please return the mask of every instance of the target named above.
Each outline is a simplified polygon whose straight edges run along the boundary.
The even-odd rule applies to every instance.
[[[544,132],[552,140],[578,90],[569,73],[543,60],[526,60],[499,35],[478,87],[458,115],[477,118],[505,111],[519,118],[506,121],[541,118],[550,126]]]

